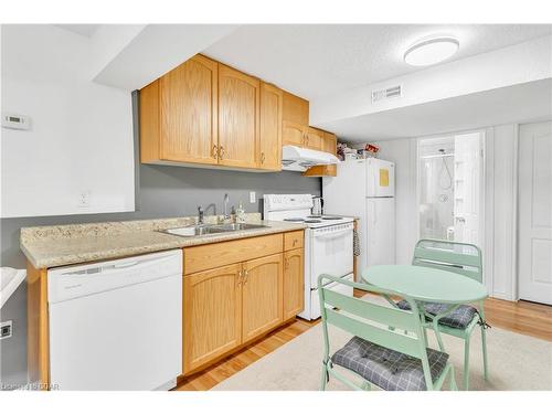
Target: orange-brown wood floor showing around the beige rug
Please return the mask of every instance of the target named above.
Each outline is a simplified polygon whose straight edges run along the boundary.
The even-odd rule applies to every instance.
[[[497,328],[545,339],[552,342],[552,306],[520,300],[487,299],[487,321]],[[178,391],[205,391],[273,352],[319,322],[296,319],[250,347],[179,383]],[[490,331],[492,332],[492,330]],[[489,333],[491,335],[491,333]],[[321,340],[321,339],[320,339]]]

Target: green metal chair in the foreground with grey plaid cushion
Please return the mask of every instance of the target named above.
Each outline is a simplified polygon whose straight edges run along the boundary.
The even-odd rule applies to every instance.
[[[323,331],[322,391],[330,376],[359,391],[368,391],[372,385],[389,391],[440,390],[447,375],[450,390],[457,390],[448,354],[426,348],[425,330],[413,299],[404,297],[413,310],[375,305],[327,289],[325,285],[331,282],[367,293],[396,295],[329,275],[318,278]],[[328,325],[354,335],[331,358]],[[399,329],[390,330],[390,326]],[[335,365],[350,371],[353,380]]]

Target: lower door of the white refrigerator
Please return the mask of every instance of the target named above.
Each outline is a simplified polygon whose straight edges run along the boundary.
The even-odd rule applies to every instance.
[[[395,199],[367,199],[365,250],[363,266],[395,264]],[[362,248],[362,244],[361,244]],[[363,267],[361,267],[363,270]]]

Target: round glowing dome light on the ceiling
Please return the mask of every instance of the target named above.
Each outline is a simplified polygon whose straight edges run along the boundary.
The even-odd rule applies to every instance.
[[[404,62],[412,66],[427,66],[443,62],[454,55],[460,43],[452,36],[422,40],[404,53]]]

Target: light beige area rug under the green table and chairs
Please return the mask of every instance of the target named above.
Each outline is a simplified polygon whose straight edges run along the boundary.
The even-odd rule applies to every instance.
[[[378,301],[379,298],[369,300]],[[320,386],[322,359],[321,323],[267,354],[235,375],[217,384],[216,391],[316,391]],[[332,350],[342,347],[351,335],[330,327]],[[437,348],[435,336],[428,331],[429,347]],[[445,349],[456,370],[461,388],[464,343],[443,336]],[[476,329],[470,346],[470,390],[516,391],[552,390],[552,342],[514,333],[499,328],[487,330],[489,380],[482,378],[480,330]],[[448,381],[444,389],[447,389]],[[347,390],[330,380],[327,390]]]

